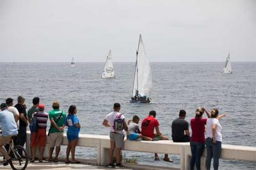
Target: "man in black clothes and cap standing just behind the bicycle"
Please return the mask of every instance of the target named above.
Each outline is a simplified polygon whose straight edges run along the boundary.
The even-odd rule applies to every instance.
[[[18,100],[18,104],[16,104],[15,107],[20,113],[20,119],[19,119],[20,127],[19,127],[18,141],[20,146],[24,146],[24,144],[26,143],[27,126],[28,126],[26,105],[24,104],[25,98],[22,96],[19,96],[17,100]],[[22,154],[22,151],[20,150],[20,155],[21,154]]]

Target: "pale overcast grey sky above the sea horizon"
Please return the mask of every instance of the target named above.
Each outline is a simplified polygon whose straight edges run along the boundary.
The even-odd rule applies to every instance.
[[[255,0],[0,0],[0,62],[256,61]]]

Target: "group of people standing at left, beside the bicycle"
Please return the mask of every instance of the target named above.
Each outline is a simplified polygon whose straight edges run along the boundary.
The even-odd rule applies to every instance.
[[[13,99],[7,98],[5,103],[0,105],[0,153],[4,155],[3,165],[6,166],[12,160],[8,155],[8,143],[13,139],[14,145],[24,146],[26,143],[27,127],[31,131],[30,147],[31,160],[36,160],[36,148],[39,151],[38,161],[43,160],[48,162],[58,162],[58,155],[63,140],[63,128],[67,127],[67,157],[66,164],[79,164],[75,158],[76,145],[78,141],[81,125],[77,118],[76,105],[70,105],[68,114],[60,109],[58,102],[52,103],[52,111],[45,112],[45,105],[40,104],[40,98],[33,98],[33,106],[26,112],[25,98],[19,96],[17,104],[13,107]],[[49,132],[47,134],[47,121],[51,121]],[[44,158],[44,150],[49,135],[49,157]],[[5,150],[4,147],[5,146]],[[52,153],[55,147],[55,157],[52,158]],[[71,151],[71,160],[69,159]],[[20,153],[22,155],[23,153]]]

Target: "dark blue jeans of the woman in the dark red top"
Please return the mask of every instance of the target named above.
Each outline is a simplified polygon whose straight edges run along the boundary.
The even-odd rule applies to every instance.
[[[201,166],[201,157],[204,153],[204,143],[196,143],[193,141],[190,141],[190,148],[191,148],[191,160],[190,160],[190,169],[194,169],[196,164],[196,169],[200,170]]]

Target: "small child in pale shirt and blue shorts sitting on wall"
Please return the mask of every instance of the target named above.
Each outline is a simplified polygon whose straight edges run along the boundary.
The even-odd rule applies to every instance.
[[[152,138],[143,136],[140,132],[139,123],[140,118],[138,116],[133,116],[132,121],[128,121],[127,138],[131,141],[136,141],[139,138],[145,141],[152,141]]]

